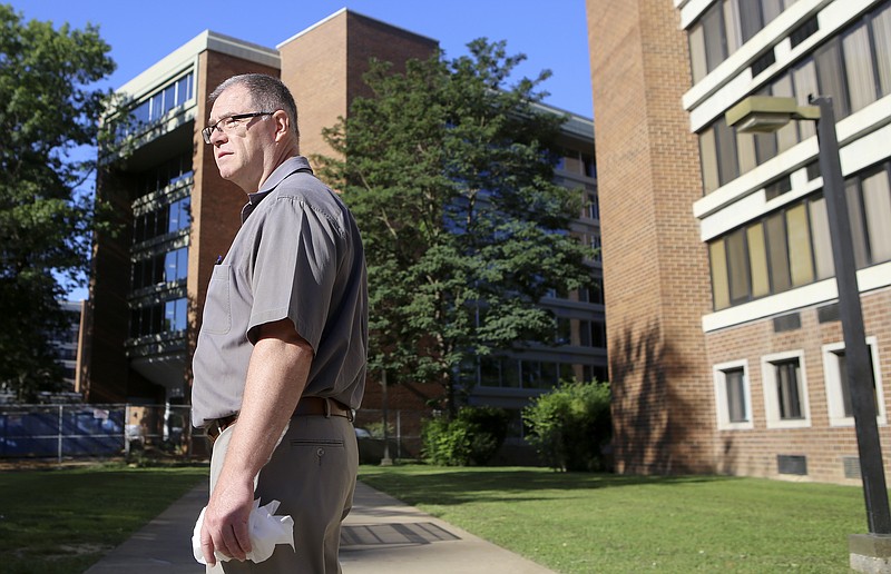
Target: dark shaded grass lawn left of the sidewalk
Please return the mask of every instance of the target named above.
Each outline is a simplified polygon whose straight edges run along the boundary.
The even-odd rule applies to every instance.
[[[206,467],[4,471],[0,572],[84,572],[202,479]]]

